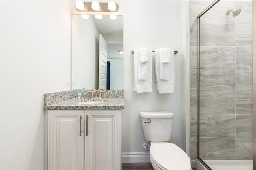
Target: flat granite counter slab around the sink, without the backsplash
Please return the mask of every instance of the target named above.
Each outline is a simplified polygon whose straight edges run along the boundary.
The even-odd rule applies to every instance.
[[[89,101],[86,104],[80,102]],[[93,101],[101,103],[93,103]],[[92,103],[90,103],[92,102]],[[46,105],[45,109],[124,109],[124,98],[109,99],[68,99]]]

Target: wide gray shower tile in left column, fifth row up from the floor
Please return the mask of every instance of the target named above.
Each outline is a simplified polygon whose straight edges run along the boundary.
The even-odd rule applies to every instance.
[[[200,47],[200,69],[235,69],[235,47]]]

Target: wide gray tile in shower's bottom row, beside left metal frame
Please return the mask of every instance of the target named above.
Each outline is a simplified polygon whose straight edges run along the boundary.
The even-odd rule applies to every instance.
[[[235,159],[235,137],[200,138],[199,156],[201,159]]]

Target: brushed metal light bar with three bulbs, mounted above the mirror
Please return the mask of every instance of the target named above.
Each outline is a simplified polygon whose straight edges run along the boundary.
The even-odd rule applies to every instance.
[[[92,0],[92,2],[76,1],[76,4],[77,3],[80,4],[81,7],[76,5],[76,10],[82,11],[82,12],[116,12],[118,11],[118,8],[119,8],[118,4],[116,4],[114,0],[110,0],[109,3],[105,3],[105,2],[99,3],[98,0]],[[108,7],[109,4],[112,4],[112,5]],[[115,5],[115,8],[114,8],[114,5]]]

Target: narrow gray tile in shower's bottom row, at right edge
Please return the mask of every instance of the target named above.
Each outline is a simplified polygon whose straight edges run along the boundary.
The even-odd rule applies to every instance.
[[[236,137],[236,159],[252,159],[252,137]]]

